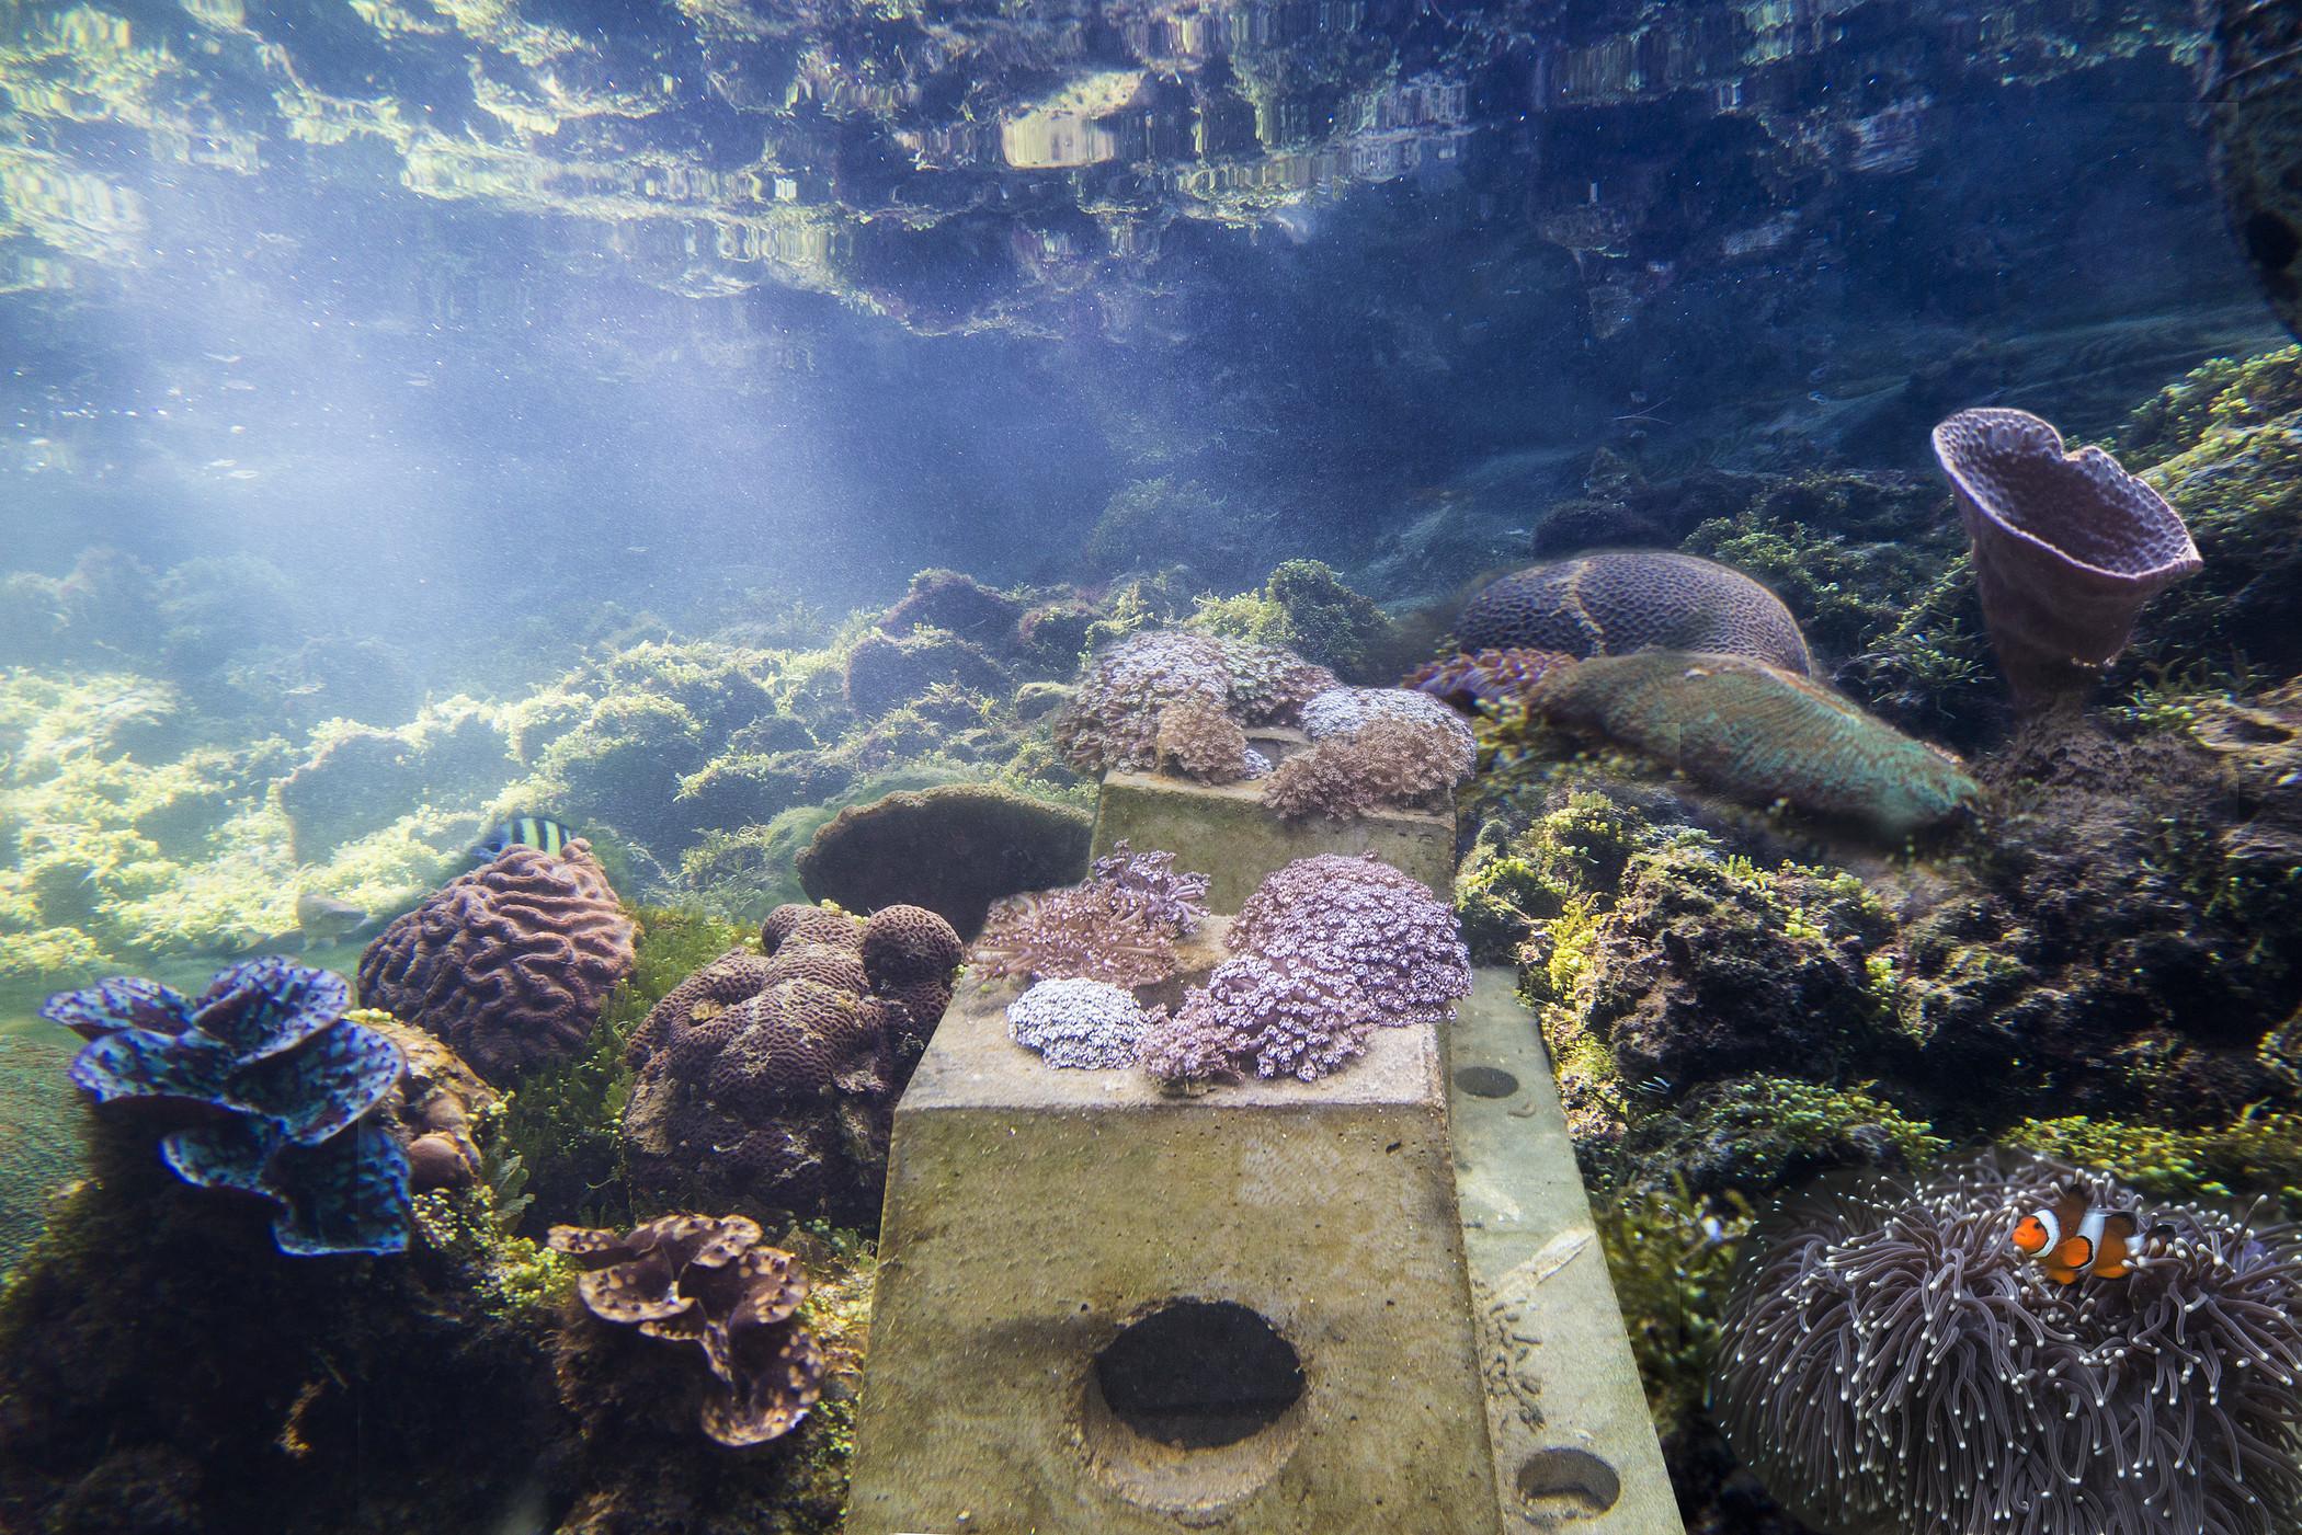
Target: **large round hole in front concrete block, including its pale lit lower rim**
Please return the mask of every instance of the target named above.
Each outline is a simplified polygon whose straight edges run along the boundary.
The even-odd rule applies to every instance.
[[[1093,1353],[1080,1438],[1119,1496],[1190,1523],[1278,1475],[1303,1438],[1303,1360],[1236,1300],[1165,1300]]]

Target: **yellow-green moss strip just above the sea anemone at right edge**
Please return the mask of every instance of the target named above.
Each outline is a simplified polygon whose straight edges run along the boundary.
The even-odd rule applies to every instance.
[[[2302,1114],[2256,1105],[2212,1130],[2106,1118],[2028,1118],[2003,1137],[2076,1167],[2116,1174],[2162,1199],[2277,1194],[2302,1213]]]

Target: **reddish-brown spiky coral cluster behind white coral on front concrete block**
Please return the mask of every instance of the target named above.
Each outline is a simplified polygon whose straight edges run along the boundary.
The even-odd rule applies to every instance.
[[[1206,916],[1206,884],[1179,875],[1174,854],[1119,842],[1084,884],[992,907],[967,960],[983,976],[1151,985],[1174,973],[1176,939]]]

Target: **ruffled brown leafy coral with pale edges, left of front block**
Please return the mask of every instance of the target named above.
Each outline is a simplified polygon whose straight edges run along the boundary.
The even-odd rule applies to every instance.
[[[603,1404],[587,1390],[599,1367],[573,1367],[571,1355],[612,1349],[626,1328],[674,1344],[681,1362],[658,1376],[654,1392],[626,1388],[617,1402],[624,1411],[654,1397],[661,1413],[741,1450],[790,1434],[815,1406],[824,1355],[794,1321],[808,1275],[790,1252],[760,1240],[755,1220],[663,1215],[631,1231],[552,1227],[550,1245],[589,1270],[576,1282],[559,1342],[562,1399],[578,1418],[594,1418]],[[695,1353],[679,1344],[695,1344]],[[626,1353],[633,1369],[663,1355]],[[603,1427],[587,1422],[589,1431]]]

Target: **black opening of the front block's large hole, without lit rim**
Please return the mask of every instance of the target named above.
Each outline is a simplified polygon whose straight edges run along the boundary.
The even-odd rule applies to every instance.
[[[1303,1360],[1236,1300],[1172,1300],[1096,1353],[1112,1418],[1179,1450],[1236,1445],[1303,1395]]]

